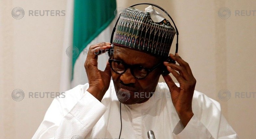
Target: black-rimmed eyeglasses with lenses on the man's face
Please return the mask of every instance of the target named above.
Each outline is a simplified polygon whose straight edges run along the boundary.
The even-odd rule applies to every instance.
[[[137,79],[145,78],[150,72],[156,70],[159,65],[162,63],[157,64],[151,69],[145,68],[140,65],[129,65],[124,63],[122,60],[115,60],[109,59],[111,69],[118,74],[123,74],[128,68],[130,68],[132,75]]]

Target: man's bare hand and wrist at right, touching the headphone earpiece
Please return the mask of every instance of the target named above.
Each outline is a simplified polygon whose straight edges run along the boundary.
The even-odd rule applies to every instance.
[[[165,75],[163,77],[169,87],[172,103],[179,115],[181,123],[185,127],[194,115],[192,112],[192,98],[196,80],[192,74],[189,64],[181,59],[177,53],[175,53],[175,55],[170,54],[170,58],[177,61],[179,65],[168,62],[164,62],[164,65],[178,80],[180,87],[176,86],[170,75]]]

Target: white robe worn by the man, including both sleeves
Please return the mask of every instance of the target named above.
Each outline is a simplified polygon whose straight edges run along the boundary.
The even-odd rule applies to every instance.
[[[65,98],[55,98],[32,139],[118,138],[120,102],[113,81],[101,102],[87,88],[88,83],[78,85]],[[147,139],[152,130],[156,139],[238,139],[215,100],[194,91],[192,110],[194,116],[184,128],[166,83],[158,83],[147,102],[121,105],[120,138]]]

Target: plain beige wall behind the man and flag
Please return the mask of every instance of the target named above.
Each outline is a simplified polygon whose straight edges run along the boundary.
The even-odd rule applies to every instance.
[[[179,29],[179,54],[197,79],[196,90],[221,103],[224,116],[241,139],[256,138],[256,94],[235,98],[235,92],[256,92],[256,12],[255,16],[234,15],[235,10],[256,10],[256,1],[118,0],[117,7],[139,2],[155,3],[168,11]],[[31,138],[52,102],[52,98],[16,102],[11,98],[14,89],[57,92],[60,83],[65,16],[16,20],[10,14],[16,6],[65,10],[66,2],[0,1],[1,139]],[[226,20],[217,14],[224,6],[232,12]],[[230,91],[228,101],[218,98],[222,89]]]

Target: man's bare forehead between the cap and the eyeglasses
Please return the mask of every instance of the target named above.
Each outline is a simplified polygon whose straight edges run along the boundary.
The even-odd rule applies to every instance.
[[[159,58],[145,52],[119,46],[114,47],[113,57],[130,65],[139,64],[145,67],[151,67],[160,62]]]

